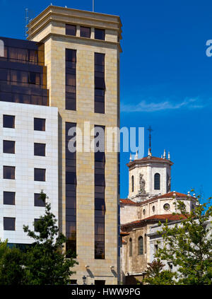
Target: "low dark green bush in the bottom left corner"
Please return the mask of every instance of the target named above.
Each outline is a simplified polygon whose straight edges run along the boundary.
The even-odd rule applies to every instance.
[[[0,285],[25,283],[25,254],[18,248],[9,248],[7,240],[0,241]]]

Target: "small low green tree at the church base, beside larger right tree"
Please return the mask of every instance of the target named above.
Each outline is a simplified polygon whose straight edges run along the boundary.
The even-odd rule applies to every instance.
[[[152,263],[148,263],[146,270],[146,277],[144,283],[153,284],[153,285],[172,285],[175,284],[176,274],[164,270],[163,264],[160,259],[154,259]]]

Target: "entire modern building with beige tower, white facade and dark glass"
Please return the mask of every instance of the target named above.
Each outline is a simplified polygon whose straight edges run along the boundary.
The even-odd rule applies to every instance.
[[[0,38],[0,238],[32,242],[23,224],[33,229],[44,213],[43,189],[66,248],[77,254],[73,283],[86,276],[87,284],[116,284],[119,154],[94,153],[88,142],[93,131],[119,127],[122,23],[48,6],[28,28],[28,40]],[[78,130],[70,134],[73,127],[82,139]]]

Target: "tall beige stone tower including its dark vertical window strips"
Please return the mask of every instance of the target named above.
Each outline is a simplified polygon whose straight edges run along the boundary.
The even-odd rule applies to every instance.
[[[49,105],[59,112],[59,228],[79,263],[71,279],[117,284],[119,156],[95,155],[88,146],[95,128],[119,127],[121,20],[51,5],[30,22],[28,34],[45,44]],[[76,134],[76,154],[67,146],[72,127],[83,134],[82,151]]]

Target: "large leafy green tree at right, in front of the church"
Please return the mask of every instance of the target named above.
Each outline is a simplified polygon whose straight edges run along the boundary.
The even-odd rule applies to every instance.
[[[178,201],[181,223],[170,227],[166,222],[158,231],[163,242],[155,257],[167,260],[177,267],[177,284],[212,284],[212,207],[208,206],[210,199],[199,204],[198,197],[196,207],[191,213],[187,213],[183,201]]]

